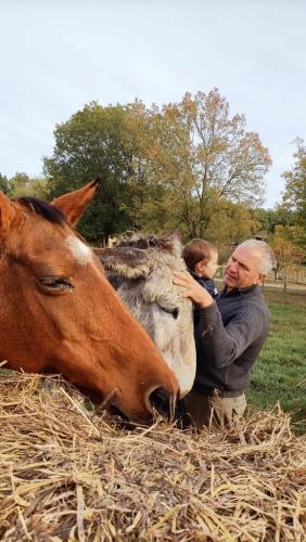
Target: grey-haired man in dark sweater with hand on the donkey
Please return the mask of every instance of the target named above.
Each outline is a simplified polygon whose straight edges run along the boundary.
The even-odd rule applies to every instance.
[[[241,416],[251,369],[269,331],[269,313],[258,284],[273,267],[270,247],[244,241],[230,256],[224,291],[214,300],[189,273],[175,273],[182,296],[200,305],[195,328],[196,376],[184,398],[186,410],[197,427],[221,427]]]

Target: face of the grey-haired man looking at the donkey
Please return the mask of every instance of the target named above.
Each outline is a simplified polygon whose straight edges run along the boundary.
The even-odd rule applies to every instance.
[[[259,284],[264,275],[259,272],[260,256],[256,248],[238,246],[229,257],[224,273],[224,284],[228,289],[247,288]]]

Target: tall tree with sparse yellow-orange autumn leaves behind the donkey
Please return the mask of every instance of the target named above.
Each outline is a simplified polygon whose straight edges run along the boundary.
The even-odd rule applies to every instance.
[[[177,220],[190,236],[203,236],[220,202],[256,206],[271,163],[243,115],[230,118],[217,89],[187,93],[178,104],[142,108],[146,137],[139,149],[152,184],[169,188]]]

